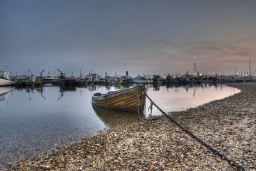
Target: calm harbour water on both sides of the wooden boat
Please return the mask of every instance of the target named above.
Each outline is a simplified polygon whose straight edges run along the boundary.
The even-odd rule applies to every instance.
[[[92,94],[108,93],[123,87],[42,87],[15,89],[0,87],[0,163],[49,152],[93,135],[116,124],[138,121],[138,115],[95,110]],[[148,95],[165,112],[186,110],[225,98],[238,89],[225,85],[147,85]],[[149,102],[147,101],[147,108]],[[153,108],[153,114],[160,114]]]

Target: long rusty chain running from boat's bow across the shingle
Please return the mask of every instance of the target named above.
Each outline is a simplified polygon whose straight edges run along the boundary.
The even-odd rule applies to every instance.
[[[190,135],[190,137],[194,138],[197,142],[199,142],[200,144],[204,145],[207,149],[209,149],[210,151],[212,151],[214,154],[220,156],[220,158],[222,160],[226,160],[228,162],[228,164],[232,167],[236,167],[237,170],[241,170],[244,171],[245,168],[243,167],[243,165],[236,163],[233,160],[230,160],[230,158],[228,158],[225,154],[221,154],[221,152],[217,151],[216,149],[212,148],[211,145],[207,144],[206,142],[204,142],[203,140],[201,140],[200,138],[196,137],[193,133],[191,133],[189,130],[187,130],[186,128],[184,128],[181,124],[177,123],[174,119],[172,119],[172,117],[170,117],[170,115],[166,114],[161,108],[159,108],[156,103],[148,96],[147,93],[145,93],[145,96],[148,98],[148,100],[150,100],[151,104],[153,104],[163,115],[165,115],[166,117],[168,117],[168,119],[170,119],[170,121],[172,121],[172,123],[174,123],[176,126],[178,126],[182,131],[184,131],[185,133],[187,133],[188,135]]]

